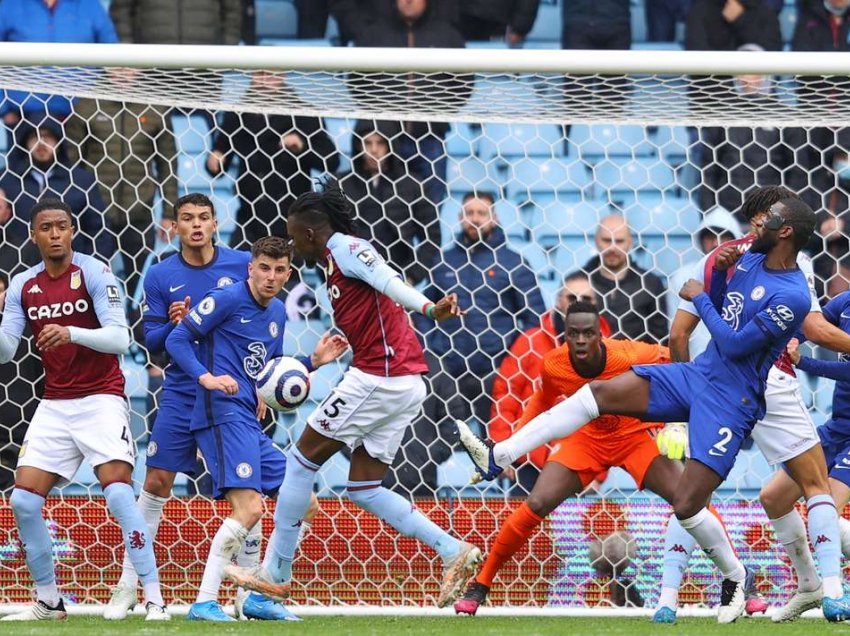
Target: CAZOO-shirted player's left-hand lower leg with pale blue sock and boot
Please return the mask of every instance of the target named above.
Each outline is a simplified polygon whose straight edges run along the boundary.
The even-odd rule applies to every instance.
[[[68,615],[65,612],[62,597],[59,595],[59,588],[56,586],[53,542],[41,514],[44,497],[29,490],[15,488],[9,503],[24,546],[27,568],[35,582],[36,602],[23,612],[10,614],[0,620],[64,620]]]

